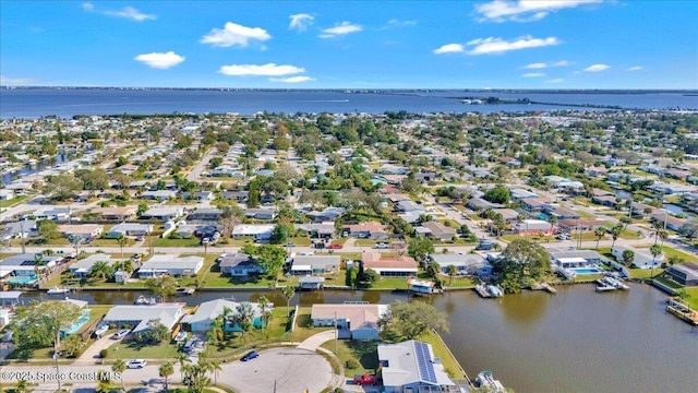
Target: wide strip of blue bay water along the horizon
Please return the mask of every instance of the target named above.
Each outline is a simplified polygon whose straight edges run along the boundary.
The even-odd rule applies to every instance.
[[[203,90],[57,90],[0,88],[0,118],[39,118],[75,115],[153,115],[173,112],[369,112],[386,110],[408,112],[465,111],[547,111],[585,109],[573,105],[604,105],[640,109],[698,110],[698,96],[686,93],[498,93],[435,91],[417,93],[349,94],[341,92],[270,92],[270,91],[203,91]],[[465,105],[455,97],[489,97],[561,105],[510,104]],[[591,109],[591,108],[587,108]],[[602,109],[594,109],[602,110]]]

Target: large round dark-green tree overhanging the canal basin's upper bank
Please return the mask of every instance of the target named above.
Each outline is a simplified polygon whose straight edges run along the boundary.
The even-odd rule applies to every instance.
[[[493,264],[497,283],[509,294],[541,281],[551,272],[550,254],[537,242],[518,238],[509,242]]]

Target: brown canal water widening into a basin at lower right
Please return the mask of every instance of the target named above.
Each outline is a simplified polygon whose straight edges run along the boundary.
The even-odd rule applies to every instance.
[[[73,297],[98,303],[132,303],[133,291],[82,291]],[[280,291],[196,293],[190,305],[265,295],[286,306]],[[41,295],[45,296],[45,295]],[[481,299],[471,291],[433,298],[448,315],[444,340],[469,377],[492,370],[518,393],[695,392],[698,386],[698,329],[664,311],[666,296],[647,285],[597,294],[591,285],[558,287],[556,296],[525,291]],[[302,306],[320,302],[407,300],[383,291],[303,293]]]

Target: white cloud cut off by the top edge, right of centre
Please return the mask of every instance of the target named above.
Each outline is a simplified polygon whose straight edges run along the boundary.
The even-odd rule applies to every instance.
[[[481,15],[480,21],[533,22],[540,21],[557,10],[600,2],[603,0],[493,0],[477,4],[476,13]]]

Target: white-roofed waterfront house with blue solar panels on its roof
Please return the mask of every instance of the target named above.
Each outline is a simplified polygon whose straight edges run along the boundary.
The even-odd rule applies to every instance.
[[[410,340],[396,344],[378,344],[378,367],[386,393],[444,392],[456,384],[432,346]]]

